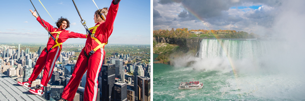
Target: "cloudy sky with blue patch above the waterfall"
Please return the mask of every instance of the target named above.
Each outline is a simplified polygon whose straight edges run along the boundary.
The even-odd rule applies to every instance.
[[[283,13],[304,14],[304,4],[282,0],[154,0],[154,30],[228,29],[263,35],[275,30]]]

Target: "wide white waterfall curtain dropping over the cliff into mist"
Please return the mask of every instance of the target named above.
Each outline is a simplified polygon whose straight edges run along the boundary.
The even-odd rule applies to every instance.
[[[234,60],[260,58],[276,47],[272,41],[202,39],[199,58],[225,58]]]

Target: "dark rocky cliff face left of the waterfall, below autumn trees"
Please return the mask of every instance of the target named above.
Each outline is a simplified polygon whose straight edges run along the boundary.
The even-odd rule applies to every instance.
[[[195,50],[196,52],[198,51],[200,47],[200,42],[202,39],[200,38],[191,38],[191,39],[186,39],[186,38],[164,38],[164,37],[154,37],[154,41],[159,42],[159,43],[169,43],[169,44],[177,44],[180,47],[187,47],[188,50]]]

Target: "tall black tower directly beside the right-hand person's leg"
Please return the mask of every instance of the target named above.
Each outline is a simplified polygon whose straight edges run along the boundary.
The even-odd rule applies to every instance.
[[[113,100],[113,86],[115,82],[115,65],[104,64],[102,66],[102,100]]]

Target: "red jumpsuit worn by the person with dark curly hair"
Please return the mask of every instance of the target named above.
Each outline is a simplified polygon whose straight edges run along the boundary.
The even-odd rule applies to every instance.
[[[39,17],[37,18],[37,21],[42,26],[44,26]],[[65,30],[65,29],[60,30],[59,28],[54,28],[52,25],[50,25],[48,22],[46,22],[44,20],[43,20],[43,22],[48,27],[48,30],[50,32],[62,31],[59,34],[59,37],[57,39],[58,43],[63,43],[68,38],[86,38],[85,34],[75,33],[75,32]],[[52,33],[52,36],[54,38],[56,38],[56,34],[57,33]],[[53,72],[55,62],[60,55],[60,51],[62,51],[62,49],[61,49],[62,44],[59,45],[60,48],[58,46],[56,46],[53,49],[49,50],[55,44],[56,44],[56,42],[52,39],[52,37],[50,37],[48,40],[48,43],[47,43],[47,47],[45,49],[43,49],[43,51],[41,52],[41,54],[36,62],[36,65],[34,67],[33,73],[31,75],[31,77],[28,78],[28,80],[33,82],[37,78],[37,76],[41,73],[42,69],[44,68],[43,76],[41,79],[41,84],[43,86],[47,86],[48,81],[51,79],[51,76],[52,76],[51,74]]]

